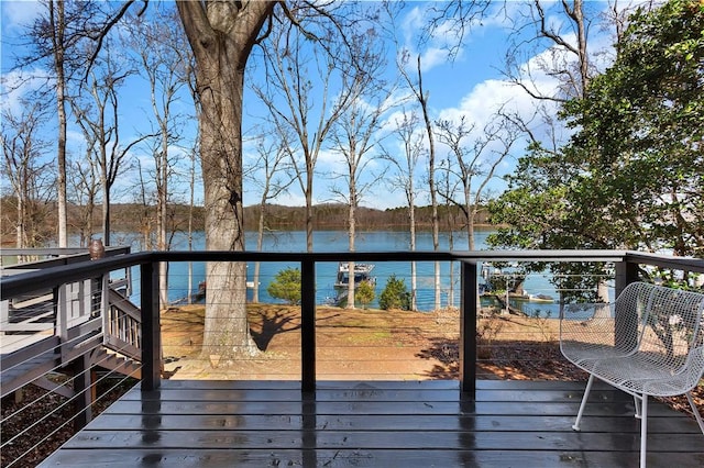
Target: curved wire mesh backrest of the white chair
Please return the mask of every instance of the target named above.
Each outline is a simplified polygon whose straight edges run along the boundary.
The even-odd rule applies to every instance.
[[[629,288],[630,285],[624,292]],[[622,322],[624,326],[632,326],[632,315],[638,314],[636,346],[640,358],[669,369],[672,375],[693,372],[694,376],[698,372],[698,380],[704,370],[704,356],[696,355],[702,355],[704,345],[704,294],[642,282],[634,283],[628,293],[628,302],[635,305],[626,308],[624,304],[623,313],[629,316],[622,317]],[[617,303],[620,300],[619,296]],[[618,323],[618,309],[616,316]],[[624,330],[632,336],[632,330]]]

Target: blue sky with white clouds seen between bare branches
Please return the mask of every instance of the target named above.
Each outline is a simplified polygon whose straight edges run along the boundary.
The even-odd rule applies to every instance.
[[[554,2],[546,2],[548,11],[550,8],[556,8]],[[422,49],[418,49],[416,46],[417,36],[422,27],[422,21],[425,18],[424,9],[427,7],[427,2],[413,1],[406,5],[399,27],[397,30],[398,41],[407,47],[411,53],[420,54],[422,56],[424,64],[424,86],[430,92],[429,105],[431,116],[433,119],[443,119],[458,121],[461,116],[473,122],[477,129],[482,129],[492,116],[492,112],[498,105],[505,105],[515,112],[528,116],[535,111],[536,103],[529,99],[527,93],[519,87],[510,86],[505,81],[502,69],[503,58],[506,52],[506,42],[512,26],[507,16],[518,18],[521,11],[525,11],[526,3],[520,1],[497,2],[492,5],[490,13],[486,15],[481,25],[472,27],[468,36],[465,36],[462,43],[459,55],[454,60],[447,59],[447,52],[443,48],[444,41],[442,37],[431,41]],[[602,10],[607,7],[606,2],[587,2],[587,8],[592,11]],[[13,73],[12,66],[12,44],[18,43],[18,37],[21,37],[22,29],[20,25],[29,24],[38,9],[41,8],[38,2],[25,0],[25,1],[2,1],[0,3],[1,12],[1,27],[2,27],[2,78],[6,82],[11,81]],[[563,22],[561,16],[557,13],[549,14],[550,22],[552,24],[559,24]],[[594,26],[591,31],[593,34],[593,46],[605,47],[609,40],[607,35]],[[568,37],[570,35],[568,34]],[[572,36],[573,37],[573,36]],[[389,47],[393,53],[393,47]],[[544,47],[537,49],[536,54],[546,53]],[[538,55],[532,57],[525,57],[525,64],[530,60],[537,60]],[[391,64],[394,63],[394,57],[389,56]],[[524,64],[524,65],[525,65]],[[33,70],[37,75],[44,74],[41,69]],[[538,86],[546,90],[549,90],[556,86],[554,79],[544,74],[537,74],[535,79]],[[4,88],[7,90],[7,88]],[[25,91],[23,88],[14,93],[2,94],[3,107],[15,107],[18,93]],[[138,81],[132,81],[129,87],[123,89],[123,96],[129,102],[129,108],[123,104],[124,122],[122,127],[127,133],[140,131],[140,122],[143,122],[146,113],[148,112],[148,96],[145,94],[145,87]],[[185,97],[183,105],[190,105],[189,98]],[[251,92],[248,92],[245,97],[245,113],[249,115],[256,114],[256,109],[261,108],[261,104],[254,101]],[[393,121],[394,114],[387,115],[389,122]],[[254,121],[245,122],[245,132],[249,126],[253,125]],[[131,124],[131,129],[130,129]],[[195,122],[193,126],[186,131],[186,135],[195,135]],[[51,132],[47,129],[47,132]],[[75,156],[81,154],[81,136],[78,130],[73,126],[70,129],[70,148]],[[129,141],[130,136],[125,135],[122,141]],[[468,144],[471,142],[468,141]],[[389,143],[388,138],[386,144],[394,147],[393,143]],[[182,148],[174,148],[175,152],[185,152],[186,144]],[[512,158],[507,158],[499,168],[499,176],[510,174],[515,168],[515,161],[520,156],[525,147],[525,142],[517,142],[514,147]],[[148,170],[148,157],[146,155],[138,154],[140,148],[135,148],[134,157],[139,157],[142,160],[143,167]],[[443,154],[444,148],[439,147],[440,155]],[[248,155],[245,154],[245,157]],[[251,157],[251,155],[250,155]],[[318,169],[321,176],[316,179],[315,182],[315,201],[327,202],[333,201],[329,190],[330,177],[326,175],[336,174],[341,169],[341,160],[338,155],[332,152],[323,152],[320,156]],[[185,169],[184,169],[185,170]],[[421,167],[418,168],[419,172],[425,172]],[[131,201],[128,198],[133,190],[128,183],[130,180],[135,179],[135,175],[124,174],[121,178],[121,187],[117,187],[113,200],[116,201]],[[4,182],[3,182],[4,183]],[[492,181],[492,192],[498,193],[505,188],[505,185],[499,178]],[[256,188],[253,185],[245,186],[245,204],[253,204],[258,201],[258,194]],[[184,189],[177,190],[184,192]],[[187,201],[182,198],[179,201]],[[298,186],[293,185],[289,192],[277,202],[282,204],[302,205],[302,193],[299,192]],[[427,202],[427,193],[419,193],[419,203]],[[374,207],[380,209],[394,208],[405,205],[405,197],[400,190],[389,191],[387,186],[378,185],[377,190],[366,193],[366,197],[362,200],[363,205]]]

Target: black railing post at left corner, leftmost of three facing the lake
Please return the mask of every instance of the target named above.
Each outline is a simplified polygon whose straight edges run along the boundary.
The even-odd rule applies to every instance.
[[[161,386],[162,327],[158,315],[158,264],[141,265],[142,391]]]

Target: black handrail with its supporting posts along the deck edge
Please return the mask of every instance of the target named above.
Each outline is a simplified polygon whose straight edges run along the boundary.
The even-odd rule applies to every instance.
[[[101,276],[108,271],[141,267],[142,389],[160,386],[161,333],[158,263],[161,261],[288,261],[301,266],[301,389],[316,387],[315,269],[324,261],[460,261],[460,381],[472,395],[475,388],[477,316],[477,263],[480,261],[605,261],[616,265],[616,292],[637,279],[639,264],[704,272],[704,260],[630,250],[475,250],[384,253],[261,253],[261,252],[144,252],[119,255],[77,265],[51,267],[0,281],[0,297],[12,298],[35,290]]]

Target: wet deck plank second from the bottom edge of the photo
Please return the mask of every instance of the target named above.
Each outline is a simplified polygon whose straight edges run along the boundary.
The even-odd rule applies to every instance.
[[[399,437],[399,432],[403,436]],[[308,436],[308,437],[307,437]],[[684,452],[701,442],[701,434],[653,434],[648,437],[648,447],[653,452]],[[332,431],[311,430],[142,430],[134,431],[82,431],[66,448],[106,449],[122,448],[190,448],[227,449],[246,446],[251,449],[315,449],[365,447],[369,449],[481,449],[481,450],[557,450],[571,447],[587,452],[635,452],[638,439],[632,433],[578,433],[578,432],[498,432],[433,431],[425,428],[397,428],[396,431]]]

